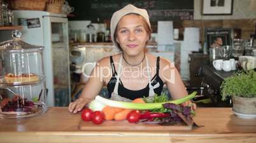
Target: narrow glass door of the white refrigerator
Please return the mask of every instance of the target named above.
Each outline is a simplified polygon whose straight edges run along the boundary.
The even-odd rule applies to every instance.
[[[52,22],[51,26],[54,106],[68,106],[71,101],[68,30],[61,22]]]

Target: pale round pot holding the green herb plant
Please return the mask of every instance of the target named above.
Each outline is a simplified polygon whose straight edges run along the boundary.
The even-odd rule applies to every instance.
[[[233,109],[238,113],[256,115],[256,97],[232,96]]]

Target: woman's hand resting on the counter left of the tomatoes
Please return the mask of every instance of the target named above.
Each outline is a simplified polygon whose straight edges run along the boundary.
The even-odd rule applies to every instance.
[[[71,113],[77,113],[77,112],[81,111],[87,103],[90,103],[90,101],[92,101],[92,99],[80,97],[80,98],[76,99],[76,101],[69,104],[68,110]]]

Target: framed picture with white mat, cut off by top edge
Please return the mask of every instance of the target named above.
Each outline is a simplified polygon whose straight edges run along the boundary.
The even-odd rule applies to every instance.
[[[232,15],[233,0],[203,0],[203,15]]]

